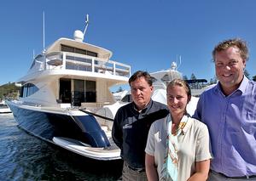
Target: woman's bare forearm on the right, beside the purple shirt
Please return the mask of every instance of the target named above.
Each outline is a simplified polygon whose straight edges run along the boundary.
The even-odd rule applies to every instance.
[[[210,160],[196,161],[195,173],[188,179],[188,181],[206,181],[210,169]]]

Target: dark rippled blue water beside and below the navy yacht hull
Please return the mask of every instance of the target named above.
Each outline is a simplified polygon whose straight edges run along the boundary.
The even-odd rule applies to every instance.
[[[0,114],[0,180],[118,180],[121,161],[93,161],[26,133]]]

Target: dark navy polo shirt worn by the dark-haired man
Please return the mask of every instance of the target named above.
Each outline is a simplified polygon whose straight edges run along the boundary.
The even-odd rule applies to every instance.
[[[133,168],[145,167],[145,147],[151,124],[169,114],[166,105],[153,101],[141,111],[133,102],[117,111],[112,128],[112,137],[121,150],[123,160]]]

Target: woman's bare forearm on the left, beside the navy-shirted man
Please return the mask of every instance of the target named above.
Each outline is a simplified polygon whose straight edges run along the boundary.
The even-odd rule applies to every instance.
[[[158,181],[158,174],[154,164],[154,156],[149,156],[146,153],[146,173],[148,181]]]

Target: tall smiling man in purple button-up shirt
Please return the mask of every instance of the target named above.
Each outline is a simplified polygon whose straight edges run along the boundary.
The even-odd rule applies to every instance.
[[[219,42],[212,58],[218,84],[201,94],[194,115],[211,137],[208,180],[256,180],[256,83],[244,76],[247,44]]]

